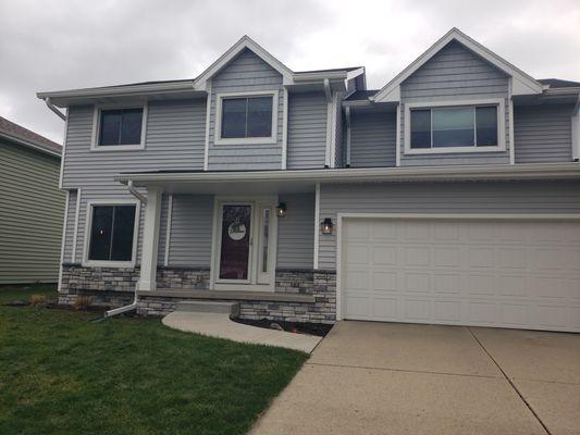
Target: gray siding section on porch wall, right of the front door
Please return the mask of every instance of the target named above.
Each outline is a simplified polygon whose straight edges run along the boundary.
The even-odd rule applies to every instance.
[[[276,269],[312,269],[314,254],[314,196],[281,195],[285,217],[277,220]]]

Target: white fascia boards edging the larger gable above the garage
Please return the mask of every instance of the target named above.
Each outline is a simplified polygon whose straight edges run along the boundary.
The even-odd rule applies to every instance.
[[[454,27],[449,32],[447,32],[440,40],[437,40],[433,46],[431,46],[427,51],[424,51],[419,58],[417,58],[409,66],[403,70],[397,76],[395,76],[395,78],[388,82],[379,92],[377,92],[377,95],[371,97],[371,100],[377,102],[393,101],[385,100],[385,98],[387,98],[387,96],[390,96],[396,87],[398,87],[412,73],[419,70],[427,61],[429,61],[433,55],[441,51],[441,49],[443,49],[452,40],[456,40],[459,44],[464,45],[469,50],[473,51],[476,54],[485,59],[488,62],[513,77],[515,82],[518,83],[516,89],[514,89],[514,95],[542,94],[543,86],[541,83],[539,83],[533,77],[526,74],[523,71],[517,69],[506,60],[495,54],[493,51],[483,47],[481,44],[471,39],[469,36]]]

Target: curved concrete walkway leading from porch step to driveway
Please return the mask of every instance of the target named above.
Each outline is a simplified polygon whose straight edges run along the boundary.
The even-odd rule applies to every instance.
[[[322,339],[313,335],[244,325],[230,320],[229,314],[220,313],[175,311],[165,315],[162,322],[169,327],[188,333],[255,345],[285,347],[307,353],[310,353]]]

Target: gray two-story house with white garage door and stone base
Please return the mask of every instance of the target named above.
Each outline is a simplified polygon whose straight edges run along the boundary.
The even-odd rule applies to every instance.
[[[580,332],[579,92],[452,29],[379,90],[243,37],[195,79],[38,94],[61,300]]]

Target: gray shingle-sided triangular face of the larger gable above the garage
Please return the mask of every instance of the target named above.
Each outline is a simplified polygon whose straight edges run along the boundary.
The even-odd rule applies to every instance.
[[[508,75],[453,40],[400,84],[402,98],[494,95],[508,91]]]

